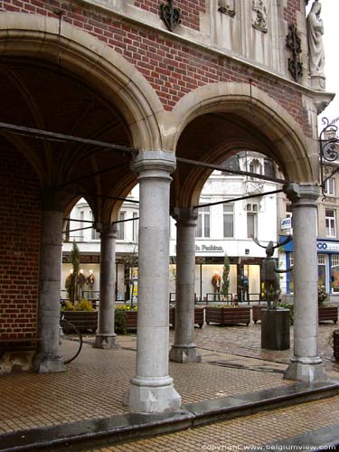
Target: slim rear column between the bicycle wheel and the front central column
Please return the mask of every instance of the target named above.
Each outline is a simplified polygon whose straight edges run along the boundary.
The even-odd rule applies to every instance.
[[[100,227],[100,305],[99,328],[93,347],[118,347],[114,333],[115,285],[116,285],[117,225],[102,224]]]

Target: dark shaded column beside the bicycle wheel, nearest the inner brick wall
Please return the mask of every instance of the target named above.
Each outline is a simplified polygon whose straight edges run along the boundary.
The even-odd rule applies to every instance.
[[[33,360],[36,372],[66,370],[59,356],[62,208],[56,193],[42,199],[42,233],[39,276],[38,334],[42,342]]]

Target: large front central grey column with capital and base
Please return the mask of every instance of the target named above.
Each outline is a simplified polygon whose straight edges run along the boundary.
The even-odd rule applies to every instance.
[[[169,193],[175,157],[163,151],[137,155],[140,186],[137,373],[125,403],[131,410],[177,409],[181,397],[168,375]]]

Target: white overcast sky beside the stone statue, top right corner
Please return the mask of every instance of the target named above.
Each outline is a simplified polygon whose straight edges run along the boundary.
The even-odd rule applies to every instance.
[[[326,91],[337,93],[319,118],[325,116],[332,120],[339,117],[339,0],[321,0],[319,3],[322,5],[321,18],[324,22]],[[307,10],[312,4],[313,0],[309,2]]]

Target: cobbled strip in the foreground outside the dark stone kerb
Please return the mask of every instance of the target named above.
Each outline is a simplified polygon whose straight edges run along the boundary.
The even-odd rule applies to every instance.
[[[156,438],[146,438],[133,443],[90,449],[90,452],[254,450],[260,445],[335,424],[339,424],[339,396],[279,410],[261,411],[252,416]],[[306,446],[309,447],[308,450],[312,450],[312,444]]]

